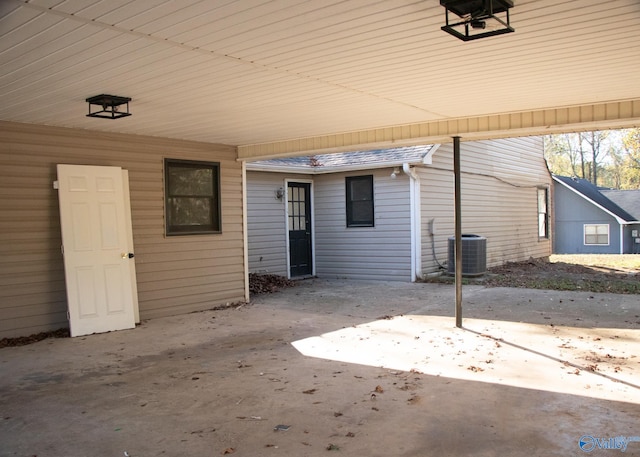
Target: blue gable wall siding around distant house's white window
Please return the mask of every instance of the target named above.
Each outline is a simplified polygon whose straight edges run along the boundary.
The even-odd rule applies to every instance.
[[[616,218],[563,185],[556,185],[554,193],[556,254],[620,253],[620,224]],[[609,245],[585,245],[584,224],[609,224]]]

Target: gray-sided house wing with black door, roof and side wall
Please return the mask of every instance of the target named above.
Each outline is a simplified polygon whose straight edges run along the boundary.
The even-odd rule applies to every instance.
[[[539,137],[462,143],[462,230],[487,266],[551,253]],[[249,269],[288,277],[414,281],[454,234],[452,145],[247,164]]]

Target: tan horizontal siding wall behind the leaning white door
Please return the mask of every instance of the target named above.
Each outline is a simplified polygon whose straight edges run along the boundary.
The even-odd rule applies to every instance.
[[[220,163],[221,234],[164,236],[164,158]],[[129,170],[142,319],[244,300],[235,148],[0,122],[0,337],[67,326],[58,163]]]

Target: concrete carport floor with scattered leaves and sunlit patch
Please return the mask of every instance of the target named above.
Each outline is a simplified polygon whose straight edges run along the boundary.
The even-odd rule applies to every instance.
[[[314,279],[0,349],[0,456],[640,455],[637,296],[463,296]]]

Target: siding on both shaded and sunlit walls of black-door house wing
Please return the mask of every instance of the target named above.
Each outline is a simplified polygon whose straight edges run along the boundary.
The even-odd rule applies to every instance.
[[[551,187],[542,151],[539,137],[462,144],[462,228],[487,237],[488,266],[551,254],[550,239],[538,236],[538,189]],[[452,145],[442,145],[431,164],[412,169],[420,185],[414,196],[420,234],[413,251],[411,183],[405,173],[395,179],[390,177],[393,168],[305,175],[313,180],[318,276],[411,281],[412,252],[420,258],[418,275],[446,263],[454,234]],[[346,226],[345,178],[360,175],[374,176],[374,227]],[[285,209],[272,195],[291,175],[251,171],[247,176],[250,268],[282,271],[277,259],[286,262]],[[260,208],[259,216],[252,214],[254,208]]]

